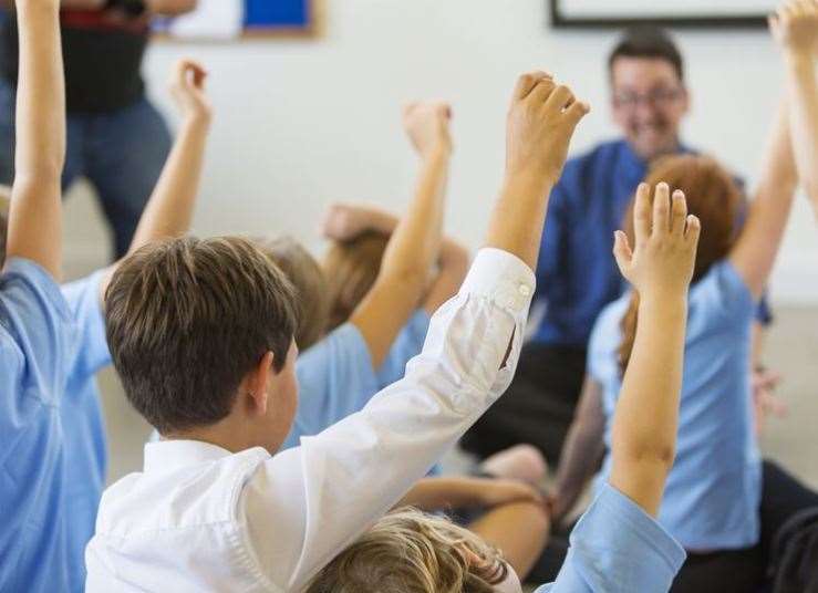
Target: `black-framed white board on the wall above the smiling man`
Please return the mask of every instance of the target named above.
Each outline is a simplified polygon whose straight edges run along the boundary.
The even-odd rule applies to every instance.
[[[776,0],[548,0],[558,28],[766,27]]]

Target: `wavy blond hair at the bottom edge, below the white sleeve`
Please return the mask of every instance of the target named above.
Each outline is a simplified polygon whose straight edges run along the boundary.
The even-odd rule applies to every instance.
[[[508,570],[470,531],[401,509],[335,556],[306,593],[488,593]]]

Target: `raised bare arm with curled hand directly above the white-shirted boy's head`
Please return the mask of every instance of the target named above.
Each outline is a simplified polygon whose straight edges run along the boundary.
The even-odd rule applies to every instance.
[[[189,60],[182,60],[174,70],[170,93],[182,113],[182,127],[142,214],[128,253],[159,239],[180,237],[190,227],[213,117],[205,94],[206,77],[204,67]],[[101,282],[101,298],[116,266],[108,268]]]

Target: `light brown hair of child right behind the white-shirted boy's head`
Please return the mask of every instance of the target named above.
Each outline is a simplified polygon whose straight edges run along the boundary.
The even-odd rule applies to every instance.
[[[315,258],[290,237],[256,239],[255,242],[296,289],[299,308],[296,343],[300,350],[307,350],[327,331],[330,316],[327,278]]]

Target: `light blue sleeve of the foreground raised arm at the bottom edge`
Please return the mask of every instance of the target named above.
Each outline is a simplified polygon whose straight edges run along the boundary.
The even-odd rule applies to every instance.
[[[536,593],[665,593],[684,550],[648,513],[610,485],[571,532],[557,581]]]

